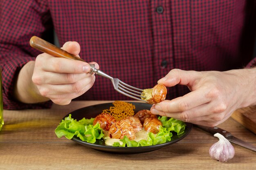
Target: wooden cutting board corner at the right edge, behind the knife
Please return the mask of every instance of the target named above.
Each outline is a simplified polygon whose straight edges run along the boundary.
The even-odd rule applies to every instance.
[[[256,105],[239,108],[231,117],[256,134]]]

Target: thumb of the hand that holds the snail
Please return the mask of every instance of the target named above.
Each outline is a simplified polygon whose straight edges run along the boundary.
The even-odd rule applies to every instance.
[[[201,77],[198,71],[184,71],[180,69],[171,70],[165,77],[158,80],[158,84],[164,84],[166,87],[172,87],[176,84],[189,86],[195,80]]]

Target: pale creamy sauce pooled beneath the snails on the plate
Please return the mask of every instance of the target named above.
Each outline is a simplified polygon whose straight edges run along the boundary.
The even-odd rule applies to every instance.
[[[119,142],[121,145],[123,144],[123,142],[120,141],[120,139],[111,139],[108,136],[108,131],[103,131],[104,132],[104,137],[103,139],[105,139],[105,144],[108,146],[113,146],[113,144],[115,142]],[[148,132],[144,129],[142,129],[141,131],[135,133],[135,139],[133,139],[134,141],[140,141],[140,140],[147,140],[148,139]]]

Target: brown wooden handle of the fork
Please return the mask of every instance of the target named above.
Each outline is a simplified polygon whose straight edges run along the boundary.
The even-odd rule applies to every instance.
[[[51,44],[37,36],[31,37],[29,44],[34,49],[37,49],[39,51],[42,51],[43,53],[47,53],[54,57],[62,57],[62,58],[67,58],[67,59],[71,59],[71,60],[79,60],[79,61],[85,62],[85,60],[83,60],[73,54],[70,54],[67,51],[65,51],[61,48],[58,48],[54,44]],[[94,64],[89,64],[89,65],[91,67],[90,73],[94,72],[95,71]]]

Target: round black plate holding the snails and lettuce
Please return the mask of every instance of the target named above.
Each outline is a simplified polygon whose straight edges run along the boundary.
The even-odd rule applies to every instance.
[[[135,113],[137,113],[137,111],[143,110],[143,109],[150,110],[150,107],[152,106],[152,105],[146,104],[146,103],[138,103],[138,102],[130,102],[130,103],[135,105]],[[83,119],[83,117],[85,117],[86,119],[90,119],[92,117],[96,117],[97,115],[99,115],[102,112],[102,110],[109,109],[110,106],[113,106],[113,104],[112,103],[97,104],[97,105],[93,105],[93,106],[80,108],[78,110],[74,110],[73,112],[71,112],[69,114],[72,114],[72,118],[76,119],[77,121],[80,119]],[[69,114],[67,114],[65,117],[68,117]],[[65,117],[63,117],[63,119]],[[90,144],[88,142],[81,141],[81,139],[79,139],[78,137],[73,137],[72,140],[81,145],[88,146],[90,148],[100,150],[103,152],[111,152],[111,153],[118,153],[118,154],[135,154],[135,153],[142,153],[142,152],[150,152],[153,150],[163,148],[164,146],[174,144],[177,141],[180,141],[184,137],[186,137],[186,135],[189,134],[191,129],[192,129],[192,124],[186,123],[186,128],[185,128],[184,133],[182,133],[181,135],[176,135],[175,133],[173,133],[172,141],[166,142],[164,144],[153,145],[153,146],[115,147],[115,146],[105,145],[104,139],[97,140],[94,144]]]

